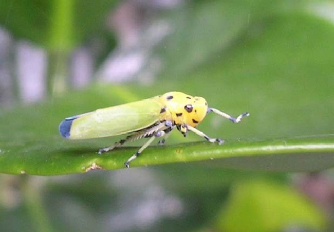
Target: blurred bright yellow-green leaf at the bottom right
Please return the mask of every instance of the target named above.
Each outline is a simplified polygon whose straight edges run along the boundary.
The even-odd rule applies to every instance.
[[[283,231],[292,226],[322,231],[326,217],[299,192],[283,184],[251,180],[232,187],[217,217],[220,231]]]

